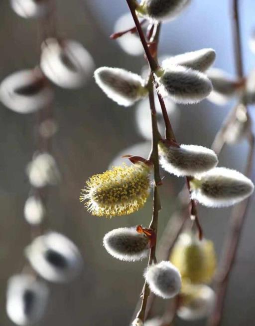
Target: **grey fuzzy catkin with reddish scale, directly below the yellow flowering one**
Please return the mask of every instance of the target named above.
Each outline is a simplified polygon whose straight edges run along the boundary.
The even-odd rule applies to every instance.
[[[122,261],[139,261],[148,255],[149,240],[135,227],[119,228],[108,232],[103,240],[107,252]]]

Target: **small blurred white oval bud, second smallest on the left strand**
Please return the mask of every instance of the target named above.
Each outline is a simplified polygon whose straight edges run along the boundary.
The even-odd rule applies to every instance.
[[[30,196],[24,206],[24,217],[29,224],[40,224],[45,215],[45,207],[40,198]]]

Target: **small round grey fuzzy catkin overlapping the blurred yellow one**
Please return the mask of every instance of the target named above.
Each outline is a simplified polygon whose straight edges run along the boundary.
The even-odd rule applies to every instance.
[[[158,297],[170,299],[181,290],[181,275],[170,262],[150,265],[144,272],[150,290]]]

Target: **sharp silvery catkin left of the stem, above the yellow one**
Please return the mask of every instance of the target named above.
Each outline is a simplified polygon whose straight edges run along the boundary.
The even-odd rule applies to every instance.
[[[144,80],[125,69],[101,67],[94,76],[99,87],[119,105],[130,106],[147,94]]]

